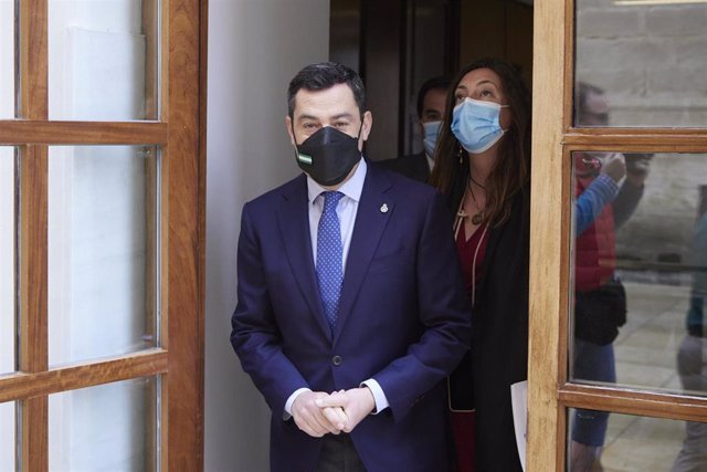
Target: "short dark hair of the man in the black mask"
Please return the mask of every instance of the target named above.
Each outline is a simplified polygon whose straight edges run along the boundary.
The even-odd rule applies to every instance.
[[[287,88],[287,108],[291,118],[295,114],[295,95],[302,88],[306,91],[325,91],[337,84],[347,84],[361,114],[366,111],[366,87],[363,81],[354,70],[336,62],[319,62],[307,65],[289,82]]]

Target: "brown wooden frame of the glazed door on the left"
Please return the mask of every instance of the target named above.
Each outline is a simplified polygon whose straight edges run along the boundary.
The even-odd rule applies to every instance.
[[[152,3],[156,0],[145,0]],[[0,402],[17,400],[21,441],[15,464],[48,470],[48,396],[139,377],[161,384],[163,470],[203,468],[203,364],[205,274],[207,0],[162,1],[161,53],[146,73],[161,86],[147,90],[146,122],[59,122],[48,109],[49,0],[19,0],[18,112],[0,120],[0,145],[21,153],[18,218],[18,371],[0,376]],[[146,8],[144,11],[154,11]],[[150,22],[151,13],[144,18]],[[148,81],[149,83],[149,81]],[[160,347],[49,368],[48,363],[48,148],[51,145],[156,145],[161,149]],[[152,159],[155,160],[155,159]],[[156,172],[148,169],[148,172]],[[150,199],[154,201],[155,199]],[[148,208],[148,211],[154,209]],[[149,255],[149,254],[148,254]],[[147,270],[157,270],[149,266]],[[151,297],[155,298],[154,296]],[[155,314],[148,315],[154,316]]]

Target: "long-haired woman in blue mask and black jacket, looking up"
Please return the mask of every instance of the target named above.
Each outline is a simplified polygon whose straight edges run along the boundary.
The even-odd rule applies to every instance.
[[[530,94],[516,67],[462,69],[434,159],[473,306],[471,349],[450,377],[457,471],[520,471],[510,385],[527,379]]]

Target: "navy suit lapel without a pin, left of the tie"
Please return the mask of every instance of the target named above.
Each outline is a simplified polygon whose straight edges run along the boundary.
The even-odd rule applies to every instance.
[[[306,177],[303,175],[297,179],[292,190],[283,193],[283,204],[278,208],[277,223],[289,266],[312,315],[330,339],[331,329],[324,316],[314,272]]]

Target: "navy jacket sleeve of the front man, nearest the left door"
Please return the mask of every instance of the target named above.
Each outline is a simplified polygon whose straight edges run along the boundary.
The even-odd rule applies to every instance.
[[[238,248],[238,304],[231,317],[231,344],[243,370],[265,397],[273,412],[283,412],[287,398],[298,388],[309,387],[283,354],[263,271],[260,234],[243,207]]]

